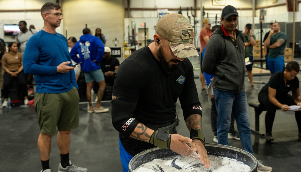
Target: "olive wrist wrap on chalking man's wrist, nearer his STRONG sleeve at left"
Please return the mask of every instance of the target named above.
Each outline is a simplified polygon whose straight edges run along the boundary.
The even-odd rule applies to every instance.
[[[156,130],[150,138],[149,143],[163,149],[170,148],[171,134]]]

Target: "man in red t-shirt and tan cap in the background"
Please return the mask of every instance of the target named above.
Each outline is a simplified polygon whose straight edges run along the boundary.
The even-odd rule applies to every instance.
[[[205,89],[205,77],[202,71],[202,52],[204,47],[206,46],[209,38],[211,36],[211,20],[209,18],[205,18],[203,21],[204,28],[200,32],[200,42],[201,42],[201,49],[200,49],[200,81],[202,85],[202,95],[207,95],[207,91]]]

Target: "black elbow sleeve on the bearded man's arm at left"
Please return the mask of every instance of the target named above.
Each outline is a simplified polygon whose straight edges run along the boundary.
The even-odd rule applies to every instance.
[[[113,127],[126,136],[129,136],[139,123],[134,118],[136,104],[124,99],[112,100],[112,124]]]

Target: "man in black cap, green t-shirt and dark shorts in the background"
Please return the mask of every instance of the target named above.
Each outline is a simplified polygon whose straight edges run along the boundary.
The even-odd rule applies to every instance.
[[[250,23],[246,24],[245,31],[244,31],[244,44],[245,44],[245,58],[250,58],[251,64],[247,65],[247,73],[248,78],[250,80],[251,87],[250,89],[258,90],[253,85],[253,74],[252,74],[252,67],[253,67],[253,46],[256,44],[255,35],[252,34],[252,25]]]

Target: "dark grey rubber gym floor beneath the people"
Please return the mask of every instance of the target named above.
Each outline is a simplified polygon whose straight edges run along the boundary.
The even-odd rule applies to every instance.
[[[207,95],[201,95],[201,84],[197,78],[199,64],[197,58],[190,58],[195,67],[195,83],[199,99],[203,108],[203,133],[206,143],[213,142],[213,132],[210,123],[210,106]],[[254,74],[254,81],[267,83],[269,75]],[[301,75],[297,77],[301,80]],[[259,89],[263,84],[254,84]],[[250,83],[245,78],[247,101],[256,102],[259,90],[250,90]],[[94,103],[95,104],[95,103]],[[111,102],[103,101],[102,106],[110,111],[102,114],[89,114],[88,104],[79,105],[79,127],[71,131],[70,160],[73,164],[88,168],[89,172],[122,171],[119,158],[118,132],[111,122]],[[248,106],[251,128],[254,129],[254,109]],[[177,102],[177,113],[180,124],[178,134],[189,137],[185,125],[182,109]],[[260,115],[260,132],[265,131],[265,112]],[[236,124],[235,124],[236,126]],[[252,135],[252,145],[255,157],[263,161],[264,165],[273,167],[274,172],[299,171],[301,169],[301,142],[298,141],[298,129],[293,111],[278,110],[273,125],[272,143]],[[38,172],[42,169],[37,139],[39,125],[36,111],[30,106],[16,106],[11,109],[0,109],[0,171],[30,171]],[[56,171],[60,163],[59,149],[56,136],[52,139],[50,167]],[[240,141],[229,139],[229,145],[242,148]]]

